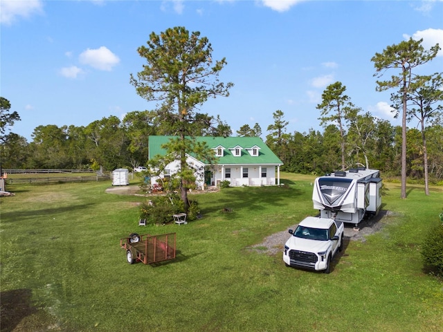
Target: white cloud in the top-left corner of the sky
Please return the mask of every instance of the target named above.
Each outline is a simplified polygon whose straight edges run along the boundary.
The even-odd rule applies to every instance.
[[[18,17],[28,18],[33,14],[43,12],[41,0],[1,0],[0,1],[0,24],[10,26]]]

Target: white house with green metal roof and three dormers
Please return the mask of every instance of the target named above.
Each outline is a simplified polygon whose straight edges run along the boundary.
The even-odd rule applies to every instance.
[[[170,138],[173,136],[150,136],[149,158],[164,156],[166,151],[161,146]],[[208,165],[186,155],[188,165],[195,169],[199,190],[205,185],[219,185],[221,181],[229,181],[231,186],[280,185],[280,166],[283,163],[261,138],[197,136],[195,140],[206,142],[217,159],[217,164]],[[152,176],[151,184],[161,184],[161,178],[176,173],[179,167],[179,160],[174,160],[159,176]]]

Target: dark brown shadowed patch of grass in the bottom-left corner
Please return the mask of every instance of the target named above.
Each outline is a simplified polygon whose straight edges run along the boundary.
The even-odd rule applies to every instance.
[[[1,332],[14,331],[21,320],[37,313],[37,308],[31,304],[32,292],[30,289],[1,292],[0,297]]]

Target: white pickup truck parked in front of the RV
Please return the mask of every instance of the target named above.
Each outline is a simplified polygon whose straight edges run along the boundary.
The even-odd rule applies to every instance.
[[[331,260],[336,252],[343,250],[341,221],[308,216],[298,224],[284,244],[283,261],[286,266],[311,270],[331,271]]]

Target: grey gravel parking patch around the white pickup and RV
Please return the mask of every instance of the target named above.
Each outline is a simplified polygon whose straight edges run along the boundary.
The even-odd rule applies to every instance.
[[[372,218],[363,219],[358,228],[354,228],[354,225],[345,223],[345,239],[349,239],[350,241],[366,241],[366,237],[370,234],[374,234],[375,232],[379,232],[381,228],[383,228],[383,223],[381,223],[381,219],[385,216],[392,215],[392,212],[381,210],[377,216]],[[286,243],[287,239],[291,236],[288,230],[295,230],[297,225],[292,225],[282,232],[277,232],[275,234],[269,235],[266,237],[262,243],[255,244],[251,246],[251,249],[262,252],[268,255],[275,255],[278,252],[282,252],[284,248],[284,243]]]

